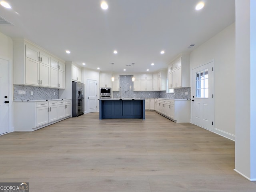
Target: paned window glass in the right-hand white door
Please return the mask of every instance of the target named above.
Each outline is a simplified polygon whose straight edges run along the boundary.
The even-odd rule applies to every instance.
[[[208,98],[208,69],[196,72],[196,98]]]

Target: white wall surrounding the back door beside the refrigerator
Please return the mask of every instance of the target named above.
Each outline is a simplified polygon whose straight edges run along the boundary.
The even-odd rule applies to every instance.
[[[96,70],[91,70],[88,68],[84,68],[82,70],[82,82],[84,82],[84,90],[86,90],[86,79],[96,80],[97,81],[97,98],[100,96],[100,72]],[[86,102],[84,106],[84,110],[86,111]],[[99,101],[97,102],[97,112],[99,111]]]

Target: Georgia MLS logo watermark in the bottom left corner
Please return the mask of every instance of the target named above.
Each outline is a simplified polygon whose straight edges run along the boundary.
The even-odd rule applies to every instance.
[[[28,183],[0,183],[0,192],[28,192]]]

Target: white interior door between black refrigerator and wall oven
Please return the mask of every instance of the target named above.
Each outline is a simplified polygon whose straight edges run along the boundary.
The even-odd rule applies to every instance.
[[[97,111],[97,81],[86,80],[86,110],[88,113]]]

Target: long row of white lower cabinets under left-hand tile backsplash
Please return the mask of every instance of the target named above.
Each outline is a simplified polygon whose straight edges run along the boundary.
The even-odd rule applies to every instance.
[[[58,102],[64,104],[58,105]],[[70,116],[71,100],[14,102],[15,131],[34,131]]]

